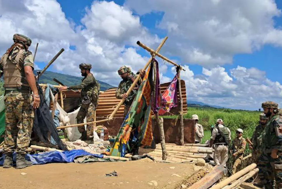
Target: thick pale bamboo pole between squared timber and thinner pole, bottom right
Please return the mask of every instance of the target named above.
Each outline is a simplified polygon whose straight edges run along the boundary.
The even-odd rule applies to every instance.
[[[220,183],[217,183],[210,189],[221,189],[224,186],[230,184],[231,182],[235,181],[236,179],[240,178],[241,176],[247,174],[251,170],[255,169],[257,167],[257,164],[253,163],[250,164],[248,167],[242,169],[241,171],[238,171],[237,173],[231,175],[230,177],[226,178],[225,180],[221,181]]]

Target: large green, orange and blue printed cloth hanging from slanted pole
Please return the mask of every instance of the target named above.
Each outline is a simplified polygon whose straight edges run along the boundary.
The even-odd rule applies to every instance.
[[[110,155],[124,157],[127,149],[128,152],[132,152],[141,144],[151,146],[153,141],[151,118],[152,76],[153,68],[151,64],[116,136]]]

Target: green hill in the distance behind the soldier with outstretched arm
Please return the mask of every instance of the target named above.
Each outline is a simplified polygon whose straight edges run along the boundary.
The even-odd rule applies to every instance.
[[[38,70],[33,71],[35,76],[37,76],[36,71],[38,71]],[[71,86],[71,85],[77,85],[77,84],[81,83],[81,79],[83,77],[75,77],[75,76],[71,76],[71,75],[67,75],[67,74],[56,73],[56,72],[53,72],[53,71],[45,71],[44,74],[42,74],[42,76],[40,76],[39,83],[50,83],[52,85],[58,85],[58,83],[53,81],[53,78],[56,78],[57,80],[59,80],[60,82],[62,82],[66,86]],[[109,88],[114,87],[114,86],[109,85],[108,83],[105,83],[105,82],[102,82],[102,81],[98,81],[98,82],[100,83],[100,90],[101,91],[105,91]]]

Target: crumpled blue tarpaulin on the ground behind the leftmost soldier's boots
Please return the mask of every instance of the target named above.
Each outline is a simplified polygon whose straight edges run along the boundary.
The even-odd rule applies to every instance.
[[[92,155],[94,157],[102,158],[103,155],[91,154],[84,150],[70,150],[70,151],[51,151],[41,154],[27,154],[26,159],[31,161],[34,165],[46,164],[46,163],[69,163],[73,162],[74,158],[79,155]],[[15,162],[15,153],[14,153],[14,162]],[[0,157],[0,165],[3,165],[4,155]]]

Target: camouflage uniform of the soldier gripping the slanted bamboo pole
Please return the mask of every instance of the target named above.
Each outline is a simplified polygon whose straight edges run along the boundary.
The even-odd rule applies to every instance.
[[[125,67],[125,66],[123,66]],[[121,68],[123,68],[121,67]],[[130,68],[125,67],[124,68],[126,70],[126,72],[124,73],[128,73],[130,76],[129,77],[133,77],[134,79],[137,77],[135,74],[132,73],[132,71],[130,70]],[[120,73],[119,73],[120,74]],[[132,85],[132,80],[130,78],[126,78],[125,80],[121,81],[119,83],[119,86],[116,90],[116,98],[117,99],[122,99],[121,95],[123,95],[124,93],[126,93],[128,91],[128,89],[130,88],[130,86]],[[142,83],[142,80],[140,78],[140,80],[137,82],[138,85],[140,85]],[[135,95],[137,93],[138,88],[133,88],[133,90],[130,92],[130,94],[128,95],[128,97],[126,98],[126,100],[124,101],[124,110],[123,110],[123,118],[126,117],[130,106],[135,98]]]

